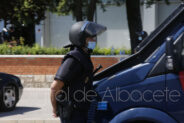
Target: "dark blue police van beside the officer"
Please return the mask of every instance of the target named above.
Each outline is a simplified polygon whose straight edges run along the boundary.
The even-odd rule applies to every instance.
[[[96,123],[184,123],[184,4],[129,58],[95,75]]]

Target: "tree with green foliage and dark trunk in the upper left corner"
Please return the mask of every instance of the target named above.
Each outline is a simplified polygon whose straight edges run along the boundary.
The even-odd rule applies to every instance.
[[[25,44],[35,42],[35,24],[45,19],[45,11],[52,0],[2,0],[0,19],[13,24],[16,31],[25,38]]]

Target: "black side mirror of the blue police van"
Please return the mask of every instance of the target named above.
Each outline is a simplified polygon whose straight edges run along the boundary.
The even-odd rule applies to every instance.
[[[166,39],[166,69],[169,71],[174,70],[174,52],[173,52],[173,38],[167,37]]]

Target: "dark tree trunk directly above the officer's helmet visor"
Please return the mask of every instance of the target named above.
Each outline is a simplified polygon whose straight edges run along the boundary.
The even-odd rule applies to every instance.
[[[97,3],[97,0],[90,0],[90,2],[88,3],[87,19],[89,21],[93,21],[94,14],[96,11],[96,3]]]

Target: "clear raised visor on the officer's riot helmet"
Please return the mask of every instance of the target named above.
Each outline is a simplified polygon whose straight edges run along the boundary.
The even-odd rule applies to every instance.
[[[105,26],[94,22],[90,22],[85,28],[85,32],[92,37],[97,36],[106,30],[107,28]]]

